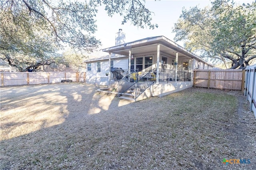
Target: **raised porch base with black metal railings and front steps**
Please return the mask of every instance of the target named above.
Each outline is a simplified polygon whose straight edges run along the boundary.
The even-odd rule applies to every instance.
[[[159,72],[153,69],[144,74],[139,74],[138,70],[134,70],[134,72],[129,74],[124,74],[124,72],[123,70],[121,72],[120,70],[112,72],[113,77],[116,74],[118,75],[116,78],[120,79],[116,80],[116,83],[114,81],[113,84],[110,81],[110,88],[118,92],[118,97],[122,95],[130,96],[134,101],[143,100],[150,96],[166,96],[167,94],[192,87],[193,85],[190,82],[190,72],[166,69],[159,69]]]

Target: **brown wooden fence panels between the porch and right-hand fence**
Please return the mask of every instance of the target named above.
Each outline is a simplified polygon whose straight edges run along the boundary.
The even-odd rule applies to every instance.
[[[194,70],[195,87],[243,90],[243,70]]]

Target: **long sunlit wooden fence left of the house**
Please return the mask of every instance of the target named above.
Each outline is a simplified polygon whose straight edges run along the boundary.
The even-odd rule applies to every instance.
[[[86,72],[2,72],[0,86],[58,83],[61,80],[86,82]]]

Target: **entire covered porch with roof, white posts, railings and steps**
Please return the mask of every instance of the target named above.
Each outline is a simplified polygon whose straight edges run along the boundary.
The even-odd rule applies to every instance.
[[[192,87],[195,60],[202,60],[164,36],[140,39],[102,51],[109,53],[110,88],[117,88],[122,96],[135,87],[141,91],[131,95],[135,100],[161,97]],[[128,57],[126,74],[116,77],[117,81],[111,81],[115,79],[110,64],[112,53]]]

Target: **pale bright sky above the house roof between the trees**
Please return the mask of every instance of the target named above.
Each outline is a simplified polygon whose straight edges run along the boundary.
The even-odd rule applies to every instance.
[[[238,4],[251,4],[252,0],[234,0],[234,2]],[[194,6],[204,8],[205,6],[211,6],[211,3],[210,0],[146,0],[145,6],[151,12],[154,12],[152,15],[152,23],[157,23],[158,28],[152,30],[146,27],[142,29],[130,23],[122,25],[123,19],[120,15],[115,14],[111,18],[104,10],[104,6],[100,7],[96,16],[98,31],[94,34],[94,36],[102,42],[102,46],[99,49],[114,46],[115,33],[117,33],[119,29],[122,29],[122,31],[126,33],[126,42],[160,35],[164,35],[174,41],[175,33],[172,33],[172,29],[174,23],[177,22],[182,13],[182,8],[189,9]],[[176,43],[183,47],[182,42]]]

